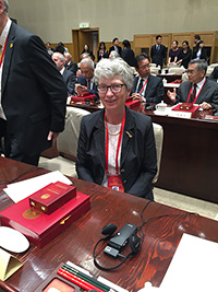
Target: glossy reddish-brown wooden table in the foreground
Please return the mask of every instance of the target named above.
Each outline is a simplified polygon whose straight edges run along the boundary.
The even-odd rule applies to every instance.
[[[47,172],[0,157],[0,211],[13,205],[3,191],[8,184]],[[90,196],[90,210],[43,248],[31,244],[27,252],[12,253],[24,265],[5,282],[1,281],[0,288],[3,287],[10,292],[35,291],[60,262],[70,260],[88,270],[94,277],[101,276],[128,291],[135,292],[143,288],[146,281],[150,281],[155,287],[160,285],[183,233],[218,242],[217,221],[76,178],[70,179],[78,191]],[[114,223],[118,229],[125,223],[140,226],[141,212],[146,203],[148,205],[143,213],[146,222],[143,227],[145,236],[141,252],[114,271],[98,269],[94,265],[93,248],[102,236],[101,229],[107,223]],[[96,250],[98,262],[106,267],[119,264],[119,259],[104,255],[105,245],[106,243],[102,243]],[[126,245],[122,254],[130,252],[130,246]]]

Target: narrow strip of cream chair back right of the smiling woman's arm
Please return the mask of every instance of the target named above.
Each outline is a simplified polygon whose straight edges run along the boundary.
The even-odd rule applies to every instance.
[[[164,129],[162,126],[153,122],[153,129],[155,133],[155,143],[156,143],[156,151],[157,151],[157,174],[153,179],[153,184],[157,183],[160,170],[160,161],[161,161],[161,153],[162,153],[162,141],[164,141]]]

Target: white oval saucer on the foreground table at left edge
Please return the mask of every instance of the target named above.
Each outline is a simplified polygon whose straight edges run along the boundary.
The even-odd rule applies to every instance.
[[[21,232],[0,226],[0,247],[12,253],[23,253],[29,247],[29,242]]]

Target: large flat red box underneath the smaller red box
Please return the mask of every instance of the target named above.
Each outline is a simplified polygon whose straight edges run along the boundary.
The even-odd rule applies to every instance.
[[[31,208],[27,197],[0,212],[0,222],[3,226],[20,231],[29,242],[43,247],[89,209],[89,196],[78,191],[75,198],[50,215]]]

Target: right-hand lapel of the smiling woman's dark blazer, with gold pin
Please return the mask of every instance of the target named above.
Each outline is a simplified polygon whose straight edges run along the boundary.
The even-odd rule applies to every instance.
[[[131,116],[131,112],[125,107],[125,126],[123,130],[123,141],[122,141],[122,152],[121,152],[121,164],[120,167],[124,164],[129,153],[131,151],[131,145],[134,139],[134,122]]]

